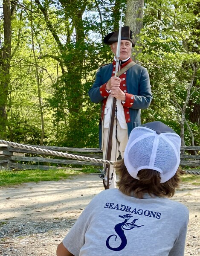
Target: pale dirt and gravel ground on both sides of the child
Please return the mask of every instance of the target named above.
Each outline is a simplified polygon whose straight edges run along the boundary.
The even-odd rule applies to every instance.
[[[0,188],[0,255],[55,256],[57,244],[94,195],[98,175]],[[173,200],[190,210],[185,256],[200,255],[200,186],[182,184]]]

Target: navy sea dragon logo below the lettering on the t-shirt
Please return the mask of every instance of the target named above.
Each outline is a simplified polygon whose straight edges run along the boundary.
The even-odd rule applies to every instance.
[[[115,226],[115,232],[117,233],[117,235],[119,236],[119,238],[121,239],[121,244],[119,245],[119,247],[116,247],[116,248],[113,248],[110,246],[109,244],[109,240],[111,237],[115,237],[115,241],[117,240],[117,236],[116,235],[111,235],[107,238],[106,240],[106,246],[108,249],[110,250],[113,250],[113,251],[120,251],[120,250],[123,250],[125,248],[125,246],[127,245],[127,239],[126,239],[126,236],[125,236],[125,233],[124,233],[124,230],[131,230],[133,229],[134,227],[142,227],[142,226],[137,226],[135,224],[135,222],[138,220],[138,219],[134,219],[132,222],[129,222],[127,223],[127,221],[132,218],[133,216],[131,216],[131,214],[126,214],[126,215],[119,215],[120,218],[123,218],[125,219],[123,222],[119,223],[119,224],[116,224]]]

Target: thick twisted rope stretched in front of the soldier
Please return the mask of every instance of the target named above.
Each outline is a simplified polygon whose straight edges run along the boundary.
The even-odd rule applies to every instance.
[[[108,161],[108,160],[103,160],[103,159],[96,159],[96,158],[92,158],[92,157],[82,157],[82,156],[77,156],[77,155],[73,155],[73,154],[53,151],[53,150],[49,150],[49,149],[36,148],[36,147],[23,145],[23,144],[19,144],[19,143],[14,143],[14,142],[6,141],[6,140],[0,140],[0,143],[6,144],[6,145],[9,145],[9,146],[12,146],[12,147],[25,148],[25,149],[29,149],[29,150],[32,150],[32,151],[41,152],[41,153],[54,155],[54,156],[58,156],[58,157],[73,158],[73,159],[84,160],[84,161],[89,161],[89,162],[93,162],[93,163],[105,163],[105,164],[112,164],[112,165],[114,164],[113,161]],[[185,172],[187,174],[200,175],[200,172],[198,172],[198,171],[186,170]]]

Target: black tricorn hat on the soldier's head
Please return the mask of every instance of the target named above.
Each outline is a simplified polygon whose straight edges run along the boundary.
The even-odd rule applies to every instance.
[[[113,44],[118,41],[119,30],[109,33],[104,37],[104,44]],[[128,40],[131,42],[132,47],[135,47],[135,42],[133,41],[133,32],[130,30],[129,26],[122,27],[121,40]]]

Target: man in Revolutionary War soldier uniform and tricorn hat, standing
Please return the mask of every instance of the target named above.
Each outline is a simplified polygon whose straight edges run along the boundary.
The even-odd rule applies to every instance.
[[[124,157],[125,146],[132,129],[141,124],[141,109],[149,107],[152,94],[147,70],[135,64],[130,58],[131,49],[135,46],[129,26],[122,27],[120,43],[120,70],[119,77],[114,76],[116,67],[116,50],[119,30],[104,38],[104,43],[110,45],[114,53],[113,63],[104,65],[97,70],[96,79],[88,94],[94,103],[101,102],[101,120],[99,125],[99,146],[105,159],[111,102],[116,98],[116,116],[113,123],[111,159],[116,161],[119,152]],[[125,70],[124,70],[125,69]],[[110,166],[110,186],[116,187],[116,175],[113,166]]]

